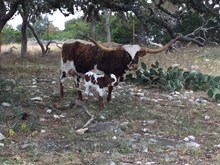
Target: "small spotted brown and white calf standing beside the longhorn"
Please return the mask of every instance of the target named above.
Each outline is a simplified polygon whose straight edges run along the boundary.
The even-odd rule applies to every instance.
[[[86,101],[88,102],[88,96],[90,89],[94,89],[99,94],[99,109],[104,108],[103,96],[105,94],[106,88],[118,85],[118,80],[114,74],[98,74],[94,71],[89,71],[84,75],[84,87]]]

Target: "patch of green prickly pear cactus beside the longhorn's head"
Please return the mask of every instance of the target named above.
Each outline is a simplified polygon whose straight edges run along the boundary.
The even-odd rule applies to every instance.
[[[142,62],[141,69],[136,71],[135,78],[130,74],[127,79],[167,91],[182,89],[207,91],[209,97],[216,101],[220,100],[220,76],[202,74],[197,70],[184,71],[177,66],[164,70],[158,61],[150,68]]]

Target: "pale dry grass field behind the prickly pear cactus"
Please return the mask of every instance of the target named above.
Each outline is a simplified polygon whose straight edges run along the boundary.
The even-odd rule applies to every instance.
[[[162,67],[179,65],[185,70],[198,70],[204,74],[219,75],[220,47],[191,47],[181,52],[147,55],[142,61],[148,65],[159,61]]]

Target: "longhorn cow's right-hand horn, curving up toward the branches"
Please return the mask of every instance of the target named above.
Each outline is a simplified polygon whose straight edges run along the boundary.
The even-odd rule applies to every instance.
[[[158,49],[150,49],[150,48],[141,47],[141,50],[144,51],[146,54],[147,54],[147,53],[150,53],[150,54],[160,53],[160,52],[162,52],[162,51],[164,51],[164,50],[167,50],[167,49],[169,49],[170,47],[172,47],[172,44],[173,44],[174,42],[176,42],[176,41],[178,40],[178,38],[179,38],[179,37],[177,37],[177,38],[171,40],[168,44],[166,44],[166,45],[164,45],[163,47],[160,47],[160,48],[158,48]],[[140,57],[143,57],[143,56],[145,56],[146,54],[139,55],[139,56],[140,56]]]

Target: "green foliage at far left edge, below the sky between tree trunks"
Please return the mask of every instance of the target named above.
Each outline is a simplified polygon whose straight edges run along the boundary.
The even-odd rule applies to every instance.
[[[2,30],[2,43],[10,44],[20,42],[20,31],[13,29],[11,26],[5,26]]]

